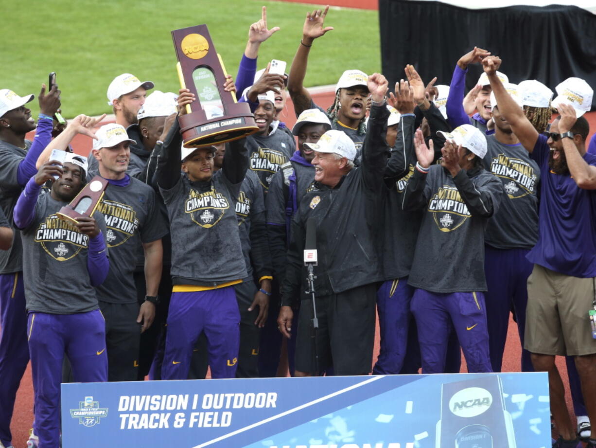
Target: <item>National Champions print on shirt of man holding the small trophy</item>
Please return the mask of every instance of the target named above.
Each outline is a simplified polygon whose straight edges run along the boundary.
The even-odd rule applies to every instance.
[[[49,215],[35,231],[36,243],[41,243],[44,251],[57,261],[67,261],[87,248],[89,237],[57,215]]]

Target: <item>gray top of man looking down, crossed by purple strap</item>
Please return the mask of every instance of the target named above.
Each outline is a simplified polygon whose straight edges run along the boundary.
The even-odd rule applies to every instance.
[[[304,195],[313,189],[315,167],[312,165],[305,166],[293,161],[290,163],[296,176],[296,206],[298,206]],[[268,223],[276,225],[286,224],[285,208],[287,206],[287,198],[285,194],[288,192],[288,187],[284,186],[284,183],[284,172],[280,170],[275,173],[267,197],[265,198]]]

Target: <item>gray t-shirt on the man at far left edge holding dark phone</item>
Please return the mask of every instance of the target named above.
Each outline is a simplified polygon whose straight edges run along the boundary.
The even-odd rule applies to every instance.
[[[17,181],[18,164],[27,155],[31,142],[25,140],[27,149],[0,140],[0,208],[4,212],[10,227],[13,226],[13,210],[18,195],[23,188]],[[8,251],[0,251],[0,274],[10,274],[23,270],[23,246],[21,233],[14,231],[13,246]]]

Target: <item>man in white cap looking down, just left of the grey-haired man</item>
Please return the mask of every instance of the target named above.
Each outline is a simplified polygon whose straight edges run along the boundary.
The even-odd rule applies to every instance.
[[[307,143],[316,143],[321,135],[331,129],[331,122],[319,109],[307,109],[298,117],[292,133],[298,137],[298,149],[289,162],[281,165],[271,181],[266,197],[267,231],[269,247],[275,267],[274,298],[278,298],[279,285],[285,275],[285,254],[290,243],[290,223],[296,213],[302,197],[312,189],[315,178],[315,167],[311,165],[315,157]],[[282,338],[277,329],[277,316],[280,313],[279,300],[269,304],[269,321],[263,330],[259,357],[259,371],[262,376],[275,376],[280,363]],[[294,312],[296,327],[298,311]],[[269,330],[269,332],[267,332]],[[296,332],[288,339],[288,367],[290,375],[294,375],[294,351],[296,349]]]

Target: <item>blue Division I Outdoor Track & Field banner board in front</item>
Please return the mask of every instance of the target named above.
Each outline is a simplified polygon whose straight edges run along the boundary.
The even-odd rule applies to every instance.
[[[544,372],[73,383],[61,400],[63,448],[551,443]]]

